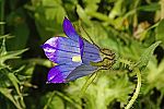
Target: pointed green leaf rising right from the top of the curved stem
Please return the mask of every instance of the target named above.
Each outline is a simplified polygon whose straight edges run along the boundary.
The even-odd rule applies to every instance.
[[[155,44],[151,45],[149,48],[144,50],[142,56],[140,57],[140,60],[136,63],[140,68],[140,70],[145,69],[148,65],[148,62],[153,56],[154,49],[161,44],[161,41],[156,41]]]

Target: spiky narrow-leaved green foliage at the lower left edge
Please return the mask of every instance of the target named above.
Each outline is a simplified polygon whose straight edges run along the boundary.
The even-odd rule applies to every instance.
[[[11,100],[16,108],[20,109],[25,108],[25,104],[23,100],[23,95],[19,87],[21,83],[14,73],[20,72],[21,69],[14,71],[9,65],[5,64],[5,61],[10,59],[19,58],[17,56],[23,53],[27,49],[17,50],[17,51],[7,51],[4,38],[2,40],[2,45],[0,48],[0,76],[2,78],[0,80],[1,83],[0,93],[3,96],[5,96],[9,100]],[[13,86],[14,88],[10,88],[11,86]],[[15,92],[15,94],[12,95],[12,92]],[[3,106],[1,108],[3,108]]]

